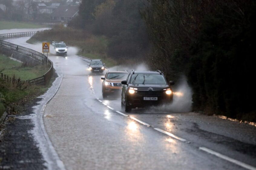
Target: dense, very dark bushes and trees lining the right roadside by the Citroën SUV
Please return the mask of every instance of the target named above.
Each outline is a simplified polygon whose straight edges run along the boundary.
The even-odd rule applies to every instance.
[[[193,89],[194,110],[256,121],[255,1],[148,0],[141,11],[155,51]]]

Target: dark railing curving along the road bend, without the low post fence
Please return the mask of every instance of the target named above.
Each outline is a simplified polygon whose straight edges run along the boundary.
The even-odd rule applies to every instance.
[[[33,80],[29,80],[30,84],[42,84],[42,83],[47,83],[52,75],[53,75],[53,62],[47,58],[46,55],[42,54],[41,52],[37,52],[35,50],[23,47],[23,46],[18,46],[13,43],[9,43],[7,41],[4,41],[2,39],[9,39],[9,38],[19,38],[19,37],[26,37],[26,36],[33,36],[36,34],[37,31],[31,31],[31,32],[21,32],[21,33],[6,33],[6,34],[0,34],[0,47],[6,47],[9,50],[13,50],[15,52],[20,52],[26,55],[31,56],[35,60],[41,61],[41,64],[47,63],[49,70],[41,77],[35,78]],[[48,62],[47,62],[48,60]],[[43,77],[43,78],[42,78]]]

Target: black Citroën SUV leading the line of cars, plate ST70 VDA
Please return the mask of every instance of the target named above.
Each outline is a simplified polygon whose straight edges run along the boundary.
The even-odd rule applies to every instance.
[[[157,71],[132,71],[126,80],[121,82],[121,106],[126,112],[136,107],[171,103],[173,81],[167,83],[163,73]]]

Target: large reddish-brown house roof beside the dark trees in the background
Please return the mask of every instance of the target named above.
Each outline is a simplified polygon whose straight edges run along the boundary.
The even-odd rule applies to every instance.
[[[53,17],[74,17],[79,11],[78,6],[59,6],[56,8],[52,16]]]

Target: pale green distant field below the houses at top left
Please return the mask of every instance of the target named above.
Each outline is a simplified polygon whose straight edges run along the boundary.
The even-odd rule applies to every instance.
[[[26,23],[26,22],[0,21],[0,30],[14,29],[14,28],[42,28],[42,27],[48,27],[48,26]]]

